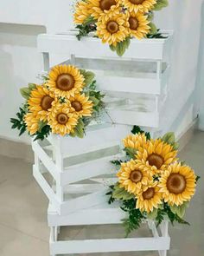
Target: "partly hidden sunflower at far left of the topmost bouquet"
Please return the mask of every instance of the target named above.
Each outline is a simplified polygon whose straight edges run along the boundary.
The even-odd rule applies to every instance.
[[[73,22],[76,24],[82,24],[88,16],[90,16],[89,4],[85,1],[80,1],[76,3],[75,13],[73,15]]]

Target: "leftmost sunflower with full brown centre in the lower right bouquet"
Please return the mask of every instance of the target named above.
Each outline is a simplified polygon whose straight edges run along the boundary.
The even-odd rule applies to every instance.
[[[138,194],[143,185],[152,181],[150,174],[132,159],[121,164],[117,176],[120,187],[124,187],[131,194]]]

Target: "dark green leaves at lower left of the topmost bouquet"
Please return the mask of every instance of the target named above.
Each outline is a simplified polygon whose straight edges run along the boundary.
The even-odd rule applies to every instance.
[[[80,40],[84,36],[88,36],[88,34],[92,31],[96,30],[96,21],[89,16],[86,18],[83,24],[77,25],[76,29],[79,30],[79,34],[76,36],[78,40]]]

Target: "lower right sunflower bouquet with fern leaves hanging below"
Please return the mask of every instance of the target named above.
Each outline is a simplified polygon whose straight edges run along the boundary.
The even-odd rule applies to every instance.
[[[126,236],[147,219],[155,220],[157,226],[166,218],[172,224],[188,224],[183,217],[200,177],[178,160],[174,133],[153,140],[137,126],[131,132],[123,140],[126,160],[112,161],[120,167],[118,182],[107,193],[110,204],[119,200],[128,213]]]

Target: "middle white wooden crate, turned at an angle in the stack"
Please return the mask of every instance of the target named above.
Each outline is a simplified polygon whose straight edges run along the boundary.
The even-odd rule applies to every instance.
[[[84,139],[51,135],[47,143],[32,142],[35,180],[59,214],[104,202],[106,188],[99,182],[92,184],[97,182],[91,179],[112,173],[110,161],[123,157],[119,142],[126,134],[124,126],[94,125]],[[45,174],[49,174],[54,182],[50,183]],[[86,183],[81,184],[85,180]],[[73,198],[73,191],[76,190],[78,196]]]

